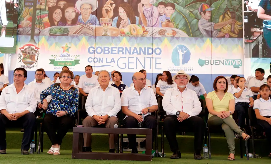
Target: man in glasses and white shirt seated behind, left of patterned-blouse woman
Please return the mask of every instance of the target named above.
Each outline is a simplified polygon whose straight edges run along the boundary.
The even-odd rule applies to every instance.
[[[48,83],[45,79],[43,79],[43,71],[41,69],[37,69],[35,72],[35,80],[31,81],[28,86],[35,90],[37,102],[37,110],[35,112],[35,115],[40,117],[43,113],[40,94],[42,91],[51,86],[51,81],[50,83]],[[50,102],[52,98],[51,96],[48,96],[46,99],[47,102]]]

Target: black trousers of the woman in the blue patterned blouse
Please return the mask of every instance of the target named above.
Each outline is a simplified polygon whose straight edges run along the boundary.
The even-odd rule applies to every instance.
[[[72,127],[73,118],[69,115],[57,117],[53,114],[46,114],[44,116],[43,124],[52,145],[61,145],[62,139],[67,134],[69,128]]]

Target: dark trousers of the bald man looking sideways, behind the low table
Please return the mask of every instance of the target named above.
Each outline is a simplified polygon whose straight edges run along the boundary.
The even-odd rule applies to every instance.
[[[123,121],[124,121],[124,126],[123,126],[124,128],[135,128],[135,129],[140,128],[138,126],[137,119],[133,118],[132,116],[126,117]],[[153,135],[152,135],[152,145],[153,145],[154,137],[156,134],[156,131],[155,131],[156,126],[157,126],[157,120],[156,120],[155,116],[152,116],[152,115],[145,116],[144,121],[143,121],[143,125],[141,128],[154,129]],[[136,149],[136,135],[128,134],[127,136],[128,136],[128,140],[129,140],[129,147],[132,149]]]

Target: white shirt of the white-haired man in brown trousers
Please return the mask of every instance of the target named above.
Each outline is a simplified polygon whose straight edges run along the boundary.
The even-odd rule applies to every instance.
[[[121,96],[117,88],[108,85],[103,91],[101,86],[91,88],[86,100],[86,112],[88,116],[105,116],[117,117],[116,114],[121,110]]]

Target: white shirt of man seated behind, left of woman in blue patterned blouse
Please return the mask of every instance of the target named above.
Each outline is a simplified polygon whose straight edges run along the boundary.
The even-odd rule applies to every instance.
[[[34,81],[31,81],[30,83],[28,83],[28,86],[30,86],[32,89],[35,90],[37,103],[40,103],[41,102],[41,97],[40,97],[41,92],[44,91],[45,89],[47,89],[49,86],[51,86],[51,83],[48,83],[47,81],[45,81],[45,79],[43,79],[41,83],[37,83],[36,79],[35,79]],[[50,102],[51,99],[52,99],[51,95],[49,95],[46,98],[47,102]]]

